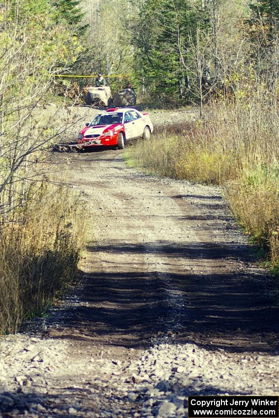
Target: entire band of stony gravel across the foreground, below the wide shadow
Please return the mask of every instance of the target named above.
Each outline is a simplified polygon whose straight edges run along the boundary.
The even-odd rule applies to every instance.
[[[73,363],[62,341],[8,336],[0,417],[187,417],[188,395],[278,393],[278,356],[209,351],[176,338],[158,335],[130,361],[101,350]]]

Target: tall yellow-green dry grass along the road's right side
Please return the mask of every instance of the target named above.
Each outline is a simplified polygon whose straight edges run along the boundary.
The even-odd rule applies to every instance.
[[[213,103],[207,122],[161,129],[128,148],[125,160],[146,173],[222,186],[235,219],[279,269],[279,114],[266,98]]]

